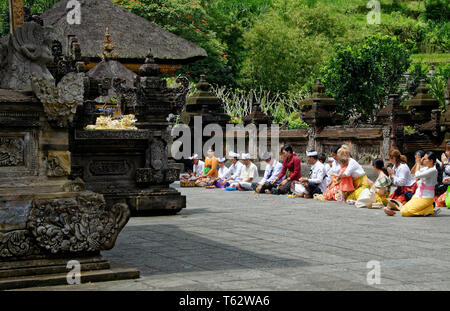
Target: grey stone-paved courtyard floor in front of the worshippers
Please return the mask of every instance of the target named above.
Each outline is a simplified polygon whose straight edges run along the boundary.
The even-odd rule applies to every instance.
[[[32,290],[450,290],[450,210],[386,216],[344,203],[178,188],[176,216],[133,217],[103,255],[128,281]],[[379,262],[379,284],[373,281]],[[376,272],[376,271],[375,271]]]

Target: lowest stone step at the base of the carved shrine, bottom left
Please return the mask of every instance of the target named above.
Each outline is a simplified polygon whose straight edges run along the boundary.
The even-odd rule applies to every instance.
[[[140,272],[137,269],[127,268],[116,263],[111,263],[111,267],[109,269],[82,271],[80,280],[83,284],[137,279],[139,276]],[[0,290],[54,285],[68,285],[67,272],[0,279]]]

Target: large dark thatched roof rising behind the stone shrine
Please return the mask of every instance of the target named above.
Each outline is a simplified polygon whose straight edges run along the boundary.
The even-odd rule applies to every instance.
[[[81,3],[81,24],[67,22],[69,0],[57,2],[42,14],[44,25],[53,26],[57,39],[67,51],[67,37],[75,35],[83,57],[98,58],[105,37],[105,27],[116,46],[115,53],[123,59],[144,60],[151,48],[159,63],[189,63],[207,56],[204,49],[180,38],[146,19],[128,12],[111,0],[78,0]]]

